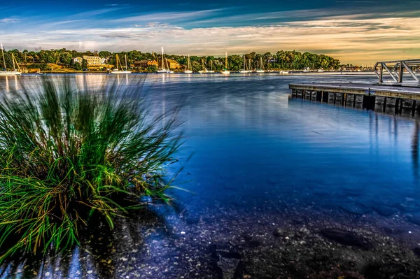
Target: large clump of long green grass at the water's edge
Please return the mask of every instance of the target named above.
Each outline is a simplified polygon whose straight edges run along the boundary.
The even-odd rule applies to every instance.
[[[92,218],[112,229],[141,196],[169,201],[164,169],[181,134],[175,114],[151,115],[141,83],[21,87],[0,90],[0,262],[76,245]]]

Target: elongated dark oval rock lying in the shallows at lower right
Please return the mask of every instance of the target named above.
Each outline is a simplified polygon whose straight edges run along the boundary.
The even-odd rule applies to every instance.
[[[363,249],[372,248],[372,244],[367,241],[363,236],[358,236],[358,234],[353,231],[346,231],[344,229],[321,229],[321,234],[326,238],[340,243],[342,245],[355,246]]]

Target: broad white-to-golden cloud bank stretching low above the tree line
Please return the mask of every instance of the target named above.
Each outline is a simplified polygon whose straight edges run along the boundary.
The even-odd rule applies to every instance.
[[[165,13],[172,20],[184,15],[210,15],[214,10],[188,13]],[[183,16],[181,16],[183,14]],[[258,14],[260,17],[288,18],[290,12]],[[276,52],[277,50],[311,51],[331,55],[346,63],[367,63],[387,59],[416,58],[420,53],[418,12],[353,13],[337,16],[330,10],[305,10],[298,17],[273,24],[246,26],[183,27],[158,20],[156,14],[141,15],[141,24],[130,27],[35,29],[0,31],[10,48],[79,50],[141,50],[151,52],[163,45],[168,53],[181,55],[220,55],[229,53]],[[162,15],[162,13],[160,13]],[[148,21],[149,20],[149,21]],[[131,21],[130,21],[131,23]],[[92,26],[92,22],[83,22]]]

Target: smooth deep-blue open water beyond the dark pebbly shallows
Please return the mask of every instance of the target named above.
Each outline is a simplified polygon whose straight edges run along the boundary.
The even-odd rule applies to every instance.
[[[130,85],[139,76],[78,75],[76,80],[88,86],[107,79]],[[165,113],[181,104],[185,120],[179,153],[185,169],[175,184],[193,194],[174,194],[188,210],[214,203],[248,210],[281,200],[356,214],[419,211],[419,122],[290,99],[288,90],[289,83],[375,80],[149,75],[145,89],[153,108]],[[0,83],[17,85],[15,78]]]

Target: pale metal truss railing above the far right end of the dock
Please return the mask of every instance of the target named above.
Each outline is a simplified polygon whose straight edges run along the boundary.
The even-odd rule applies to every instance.
[[[420,86],[420,59],[377,62],[379,85]],[[391,78],[391,79],[390,79]]]

